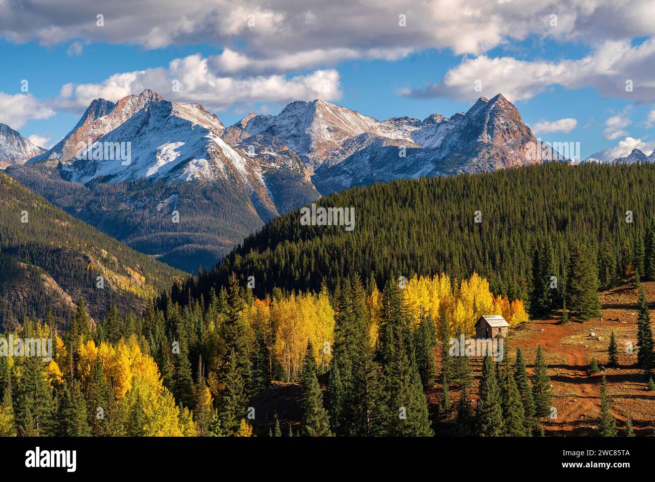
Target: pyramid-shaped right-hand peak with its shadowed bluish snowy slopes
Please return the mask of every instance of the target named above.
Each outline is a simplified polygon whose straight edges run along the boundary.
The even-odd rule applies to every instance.
[[[542,162],[531,156],[531,149],[536,152],[537,139],[514,105],[500,94],[491,100],[480,98],[465,114],[457,113],[450,119],[435,114],[418,124],[405,121],[403,125],[416,127],[404,131],[411,140],[385,141],[373,134],[368,134],[370,138],[346,139],[343,145],[356,141],[358,146],[343,160],[324,162],[316,168],[312,181],[318,190],[327,194],[398,177],[488,172]],[[541,146],[547,159],[558,158],[548,145]]]

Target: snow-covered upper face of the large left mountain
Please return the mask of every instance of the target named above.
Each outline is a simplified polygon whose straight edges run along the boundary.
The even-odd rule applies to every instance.
[[[71,181],[81,183],[96,177],[117,183],[146,177],[191,181],[229,176],[244,182],[246,160],[220,138],[222,131],[223,124],[200,105],[147,103],[65,170]],[[121,155],[106,146],[118,146]]]

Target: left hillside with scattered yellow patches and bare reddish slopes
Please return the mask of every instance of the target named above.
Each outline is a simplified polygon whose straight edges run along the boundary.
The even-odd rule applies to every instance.
[[[66,323],[79,297],[94,318],[112,304],[140,311],[158,290],[185,276],[5,174],[0,174],[0,212],[0,325],[5,329],[26,316],[43,318],[48,308],[56,323]]]

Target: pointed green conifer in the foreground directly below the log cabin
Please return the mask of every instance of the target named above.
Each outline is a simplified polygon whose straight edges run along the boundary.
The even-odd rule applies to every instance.
[[[476,410],[477,435],[481,437],[501,436],[504,430],[500,388],[496,379],[495,363],[491,356],[484,358],[482,379]]]

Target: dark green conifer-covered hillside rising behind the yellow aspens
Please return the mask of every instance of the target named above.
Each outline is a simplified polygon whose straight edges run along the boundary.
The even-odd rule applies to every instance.
[[[354,273],[383,286],[392,276],[476,271],[491,289],[527,300],[535,251],[552,256],[563,289],[569,251],[586,246],[601,286],[632,272],[655,276],[655,166],[543,164],[490,174],[405,179],[356,187],[318,205],[354,206],[353,231],[301,225],[299,211],[246,238],[214,270],[181,291],[207,297],[231,272],[255,293],[333,289]],[[476,222],[481,221],[481,222]],[[550,246],[548,246],[550,245]],[[648,261],[645,263],[645,261]]]

